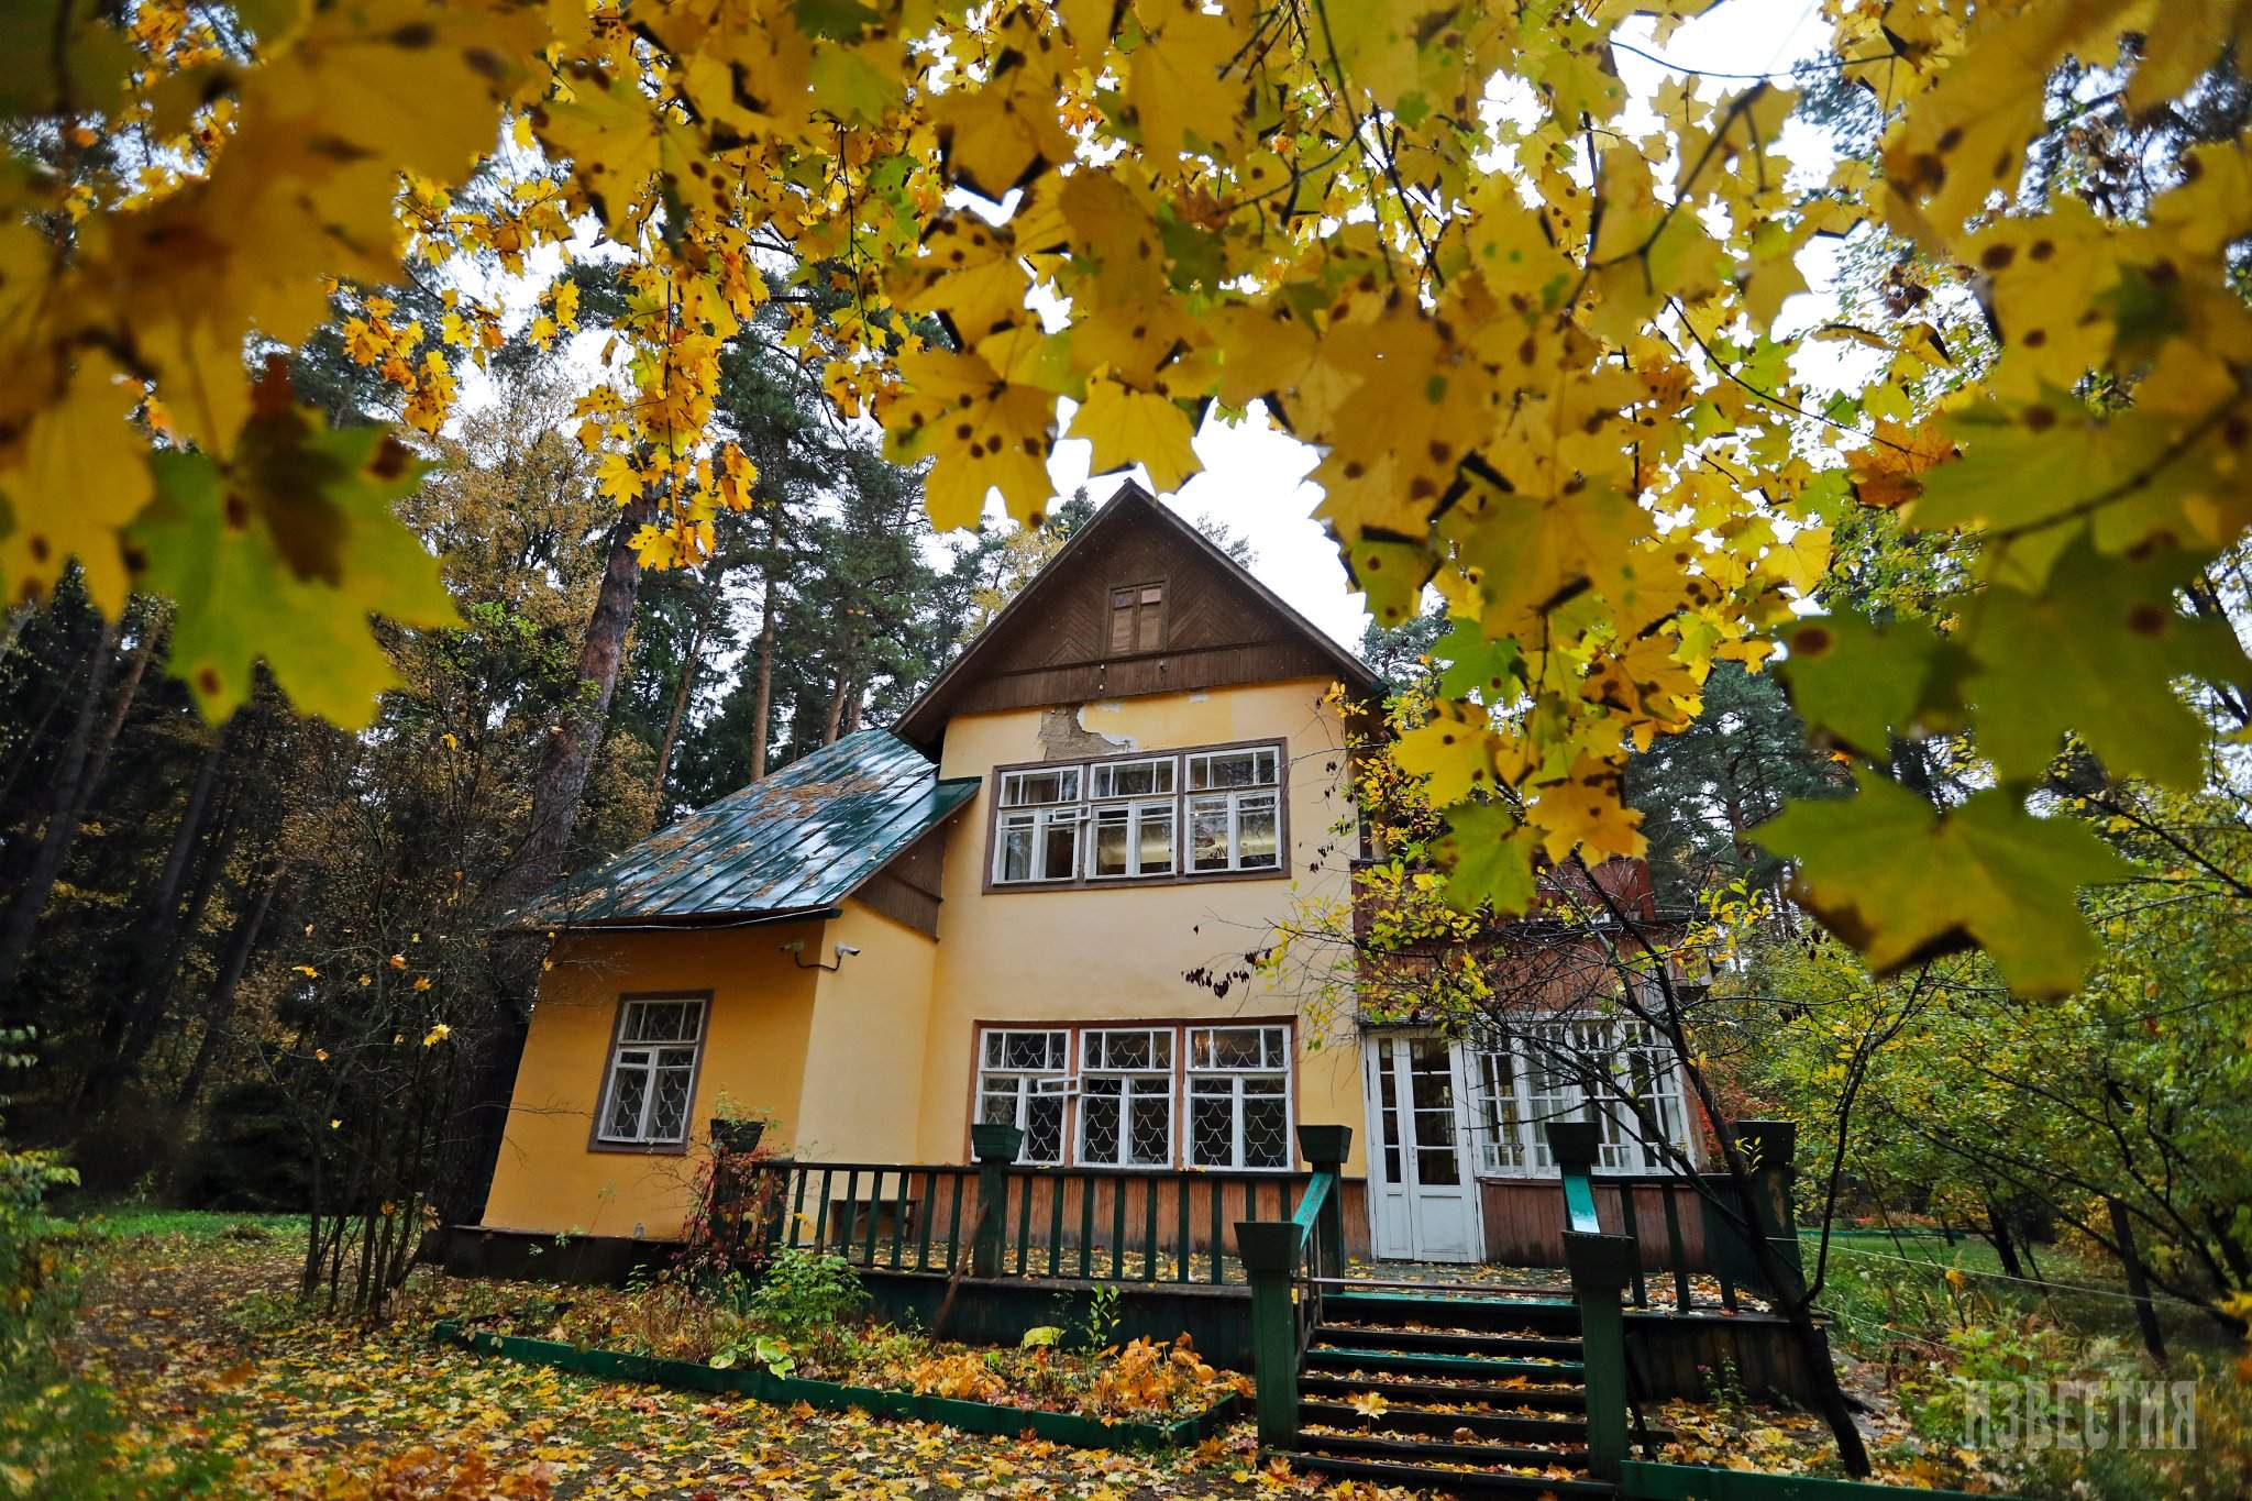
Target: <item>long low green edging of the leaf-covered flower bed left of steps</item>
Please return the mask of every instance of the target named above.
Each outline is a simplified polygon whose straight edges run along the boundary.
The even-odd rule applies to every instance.
[[[768,1370],[723,1370],[698,1366],[685,1359],[660,1359],[655,1355],[626,1355],[622,1350],[592,1350],[558,1339],[522,1339],[518,1334],[491,1334],[464,1330],[455,1319],[439,1319],[430,1330],[435,1339],[455,1343],[471,1352],[504,1355],[534,1366],[554,1366],[581,1375],[613,1382],[651,1382],[676,1391],[707,1391],[714,1395],[743,1395],[759,1402],[804,1402],[824,1411],[860,1411],[878,1418],[914,1418],[919,1422],[941,1422],[964,1433],[991,1433],[1016,1438],[1036,1433],[1049,1442],[1074,1449],[1171,1449],[1194,1445],[1221,1431],[1239,1418],[1241,1397],[1221,1397],[1194,1418],[1178,1422],[1103,1422],[1079,1413],[1049,1413],[1025,1406],[993,1406],[991,1402],[964,1402],[959,1397],[921,1397],[912,1391],[881,1391],[874,1386],[842,1386],[838,1382],[811,1382],[795,1375],[772,1375]]]

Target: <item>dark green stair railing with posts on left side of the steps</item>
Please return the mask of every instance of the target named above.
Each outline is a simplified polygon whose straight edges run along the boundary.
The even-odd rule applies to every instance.
[[[1297,1364],[1322,1323],[1322,1285],[1344,1271],[1344,1154],[1349,1125],[1302,1125],[1297,1150],[1313,1166],[1297,1213],[1236,1224],[1236,1256],[1252,1285],[1252,1382],[1259,1445],[1297,1440]]]

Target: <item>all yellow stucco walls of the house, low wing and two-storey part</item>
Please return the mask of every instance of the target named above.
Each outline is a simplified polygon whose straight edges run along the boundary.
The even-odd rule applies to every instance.
[[[980,1022],[1297,1019],[1297,1121],[1353,1127],[1365,1172],[1360,1049],[1351,1019],[1329,1035],[1288,981],[1225,997],[1185,979],[1230,970],[1299,900],[1340,900],[1356,842],[1344,810],[1344,727],[1326,680],[1085,704],[1081,729],[1128,749],[1279,738],[1288,758],[1288,873],[1088,891],[984,891],[991,783],[946,833],[939,938],[847,900],[829,923],[568,934],[540,986],[518,1067],[507,1143],[484,1224],[586,1235],[678,1235],[694,1199],[705,1121],[725,1089],[777,1116],[770,1139],[826,1161],[966,1161]],[[962,716],[941,776],[1040,761],[1043,711]],[[838,963],[797,968],[781,945]],[[590,1148],[617,997],[709,990],[689,1154]]]

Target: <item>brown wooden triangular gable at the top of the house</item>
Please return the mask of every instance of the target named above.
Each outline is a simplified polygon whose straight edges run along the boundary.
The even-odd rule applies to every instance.
[[[1110,592],[1149,583],[1164,585],[1164,644],[1112,655]],[[899,734],[930,747],[955,713],[1324,675],[1358,693],[1380,686],[1351,653],[1128,482],[930,684]]]

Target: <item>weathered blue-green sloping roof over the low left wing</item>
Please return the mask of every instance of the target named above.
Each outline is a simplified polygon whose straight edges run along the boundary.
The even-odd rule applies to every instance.
[[[554,887],[507,927],[811,916],[977,794],[890,729],[863,729]]]

